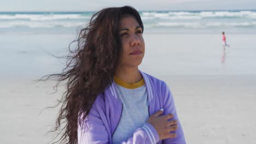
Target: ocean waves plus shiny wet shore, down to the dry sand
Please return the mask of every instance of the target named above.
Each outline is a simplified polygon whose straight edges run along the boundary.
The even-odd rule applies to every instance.
[[[256,74],[256,10],[139,13],[146,43],[141,70],[158,76]],[[1,12],[0,79],[39,79],[61,72],[65,59],[53,55],[67,55],[93,14]],[[223,31],[230,45],[225,52]]]

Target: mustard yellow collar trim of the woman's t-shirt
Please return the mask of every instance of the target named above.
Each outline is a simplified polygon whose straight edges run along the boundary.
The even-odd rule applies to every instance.
[[[129,88],[129,89],[135,89],[135,88],[139,88],[139,87],[145,85],[144,79],[141,79],[140,81],[135,82],[135,83],[126,83],[116,76],[114,76],[114,82],[117,83],[121,87]]]

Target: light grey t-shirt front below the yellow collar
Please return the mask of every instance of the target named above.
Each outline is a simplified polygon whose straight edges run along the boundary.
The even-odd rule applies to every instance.
[[[125,88],[117,85],[118,97],[123,103],[123,110],[117,129],[112,136],[113,143],[127,141],[133,131],[141,128],[149,118],[146,85],[138,88]]]

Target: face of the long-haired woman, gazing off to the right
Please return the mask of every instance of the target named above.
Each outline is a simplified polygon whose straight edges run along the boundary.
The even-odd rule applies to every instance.
[[[145,52],[142,28],[132,16],[123,17],[119,26],[123,53],[119,65],[121,67],[137,67],[141,64]]]

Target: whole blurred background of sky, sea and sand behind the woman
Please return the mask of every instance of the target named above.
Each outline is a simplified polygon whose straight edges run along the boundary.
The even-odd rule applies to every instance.
[[[52,55],[67,55],[96,11],[124,5],[144,23],[139,68],[171,88],[187,143],[256,143],[256,2],[250,0],[1,1],[2,143],[54,137],[47,132],[59,107],[44,108],[56,105],[65,88],[51,94],[54,81],[35,80],[62,71],[65,59]]]

